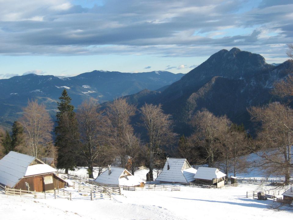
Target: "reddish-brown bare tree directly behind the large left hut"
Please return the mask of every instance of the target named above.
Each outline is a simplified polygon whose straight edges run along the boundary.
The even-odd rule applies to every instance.
[[[24,128],[25,145],[18,146],[18,151],[41,158],[46,155],[52,143],[53,122],[45,105],[37,101],[28,101],[20,123]]]

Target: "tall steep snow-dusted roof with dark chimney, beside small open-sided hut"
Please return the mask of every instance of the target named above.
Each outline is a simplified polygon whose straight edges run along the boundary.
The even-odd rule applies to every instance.
[[[169,158],[156,181],[188,183],[194,181],[194,174],[196,172],[196,169],[190,167],[185,158]]]

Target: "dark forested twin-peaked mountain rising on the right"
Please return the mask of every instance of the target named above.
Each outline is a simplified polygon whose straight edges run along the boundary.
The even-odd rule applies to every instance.
[[[143,90],[127,99],[138,107],[145,102],[161,103],[172,114],[179,134],[190,134],[188,123],[202,108],[216,116],[226,114],[254,133],[247,108],[277,100],[270,94],[273,83],[292,72],[292,60],[271,65],[259,54],[238,48],[220,50],[165,90]]]

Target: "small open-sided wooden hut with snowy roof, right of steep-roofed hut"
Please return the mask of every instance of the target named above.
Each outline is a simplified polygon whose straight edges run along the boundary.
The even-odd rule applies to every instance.
[[[198,167],[194,175],[195,183],[215,185],[217,188],[225,185],[226,174],[214,167]]]

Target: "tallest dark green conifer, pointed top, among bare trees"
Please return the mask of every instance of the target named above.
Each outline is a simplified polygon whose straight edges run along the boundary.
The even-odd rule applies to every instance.
[[[71,105],[71,98],[64,89],[60,102],[57,102],[59,112],[56,113],[58,126],[55,127],[56,141],[58,148],[57,168],[74,170],[78,157],[79,133],[75,117],[74,106]]]

